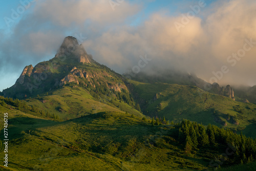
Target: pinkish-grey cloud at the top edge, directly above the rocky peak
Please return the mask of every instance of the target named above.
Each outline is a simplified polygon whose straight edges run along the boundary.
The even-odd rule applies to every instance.
[[[83,25],[87,20],[100,25],[120,23],[138,9],[137,5],[131,5],[127,1],[120,1],[112,8],[110,2],[105,0],[47,0],[35,8],[35,14],[42,20],[51,20],[53,24],[70,27],[72,24]]]

